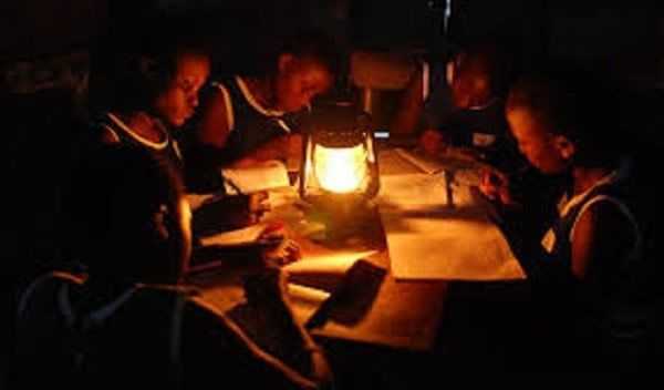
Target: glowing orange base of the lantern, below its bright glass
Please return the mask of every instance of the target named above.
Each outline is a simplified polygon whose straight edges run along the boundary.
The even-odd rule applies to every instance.
[[[374,204],[357,194],[325,194],[307,199],[309,218],[325,226],[324,240],[342,240],[359,233]]]

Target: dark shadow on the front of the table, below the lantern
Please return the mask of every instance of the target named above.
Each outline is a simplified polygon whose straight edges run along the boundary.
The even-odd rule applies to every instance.
[[[345,326],[360,322],[373,305],[386,274],[385,269],[364,259],[357,260],[305,327],[317,328],[328,320]]]

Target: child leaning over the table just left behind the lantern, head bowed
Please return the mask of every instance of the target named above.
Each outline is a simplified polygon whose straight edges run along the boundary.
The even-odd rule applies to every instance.
[[[298,160],[301,137],[294,114],[329,90],[339,68],[334,42],[301,32],[281,47],[259,74],[236,74],[211,83],[200,117],[185,137],[193,175],[220,166]]]

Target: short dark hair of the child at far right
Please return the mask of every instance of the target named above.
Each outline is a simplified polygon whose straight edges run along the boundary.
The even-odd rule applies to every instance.
[[[506,111],[526,109],[542,131],[573,142],[575,163],[614,163],[624,150],[616,136],[621,120],[618,85],[599,71],[552,61],[512,85]]]

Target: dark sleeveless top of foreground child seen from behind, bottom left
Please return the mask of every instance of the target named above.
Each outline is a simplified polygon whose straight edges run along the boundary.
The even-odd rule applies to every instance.
[[[94,306],[82,304],[84,295],[84,278],[58,271],[24,290],[17,351],[29,366],[19,365],[21,381],[32,380],[27,377],[37,358],[53,382],[74,388],[97,381],[139,383],[144,378],[160,388],[180,382],[180,329],[190,292],[134,285]]]

